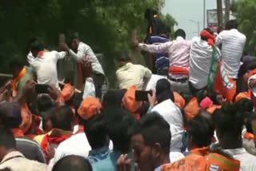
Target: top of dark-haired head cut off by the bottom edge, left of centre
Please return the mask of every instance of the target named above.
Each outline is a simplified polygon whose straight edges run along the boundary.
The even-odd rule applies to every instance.
[[[53,171],[92,171],[90,162],[85,157],[70,155],[59,160],[53,168]]]

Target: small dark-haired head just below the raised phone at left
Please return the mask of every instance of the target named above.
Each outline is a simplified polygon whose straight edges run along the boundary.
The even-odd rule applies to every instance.
[[[48,94],[39,94],[36,102],[38,113],[45,112],[54,107],[54,101]]]

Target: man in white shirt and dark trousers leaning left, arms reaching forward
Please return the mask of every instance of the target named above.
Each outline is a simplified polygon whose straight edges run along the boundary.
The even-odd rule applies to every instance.
[[[71,40],[72,50],[65,43],[62,43],[60,45],[60,48],[68,52],[70,57],[77,62],[80,62],[82,58],[89,58],[93,69],[92,78],[94,80],[96,97],[102,98],[102,85],[105,81],[105,73],[102,69],[102,65],[98,61],[98,58],[94,54],[94,51],[90,48],[90,46],[81,42],[78,38],[78,35],[74,35]],[[78,74],[80,73],[78,72]],[[82,78],[78,78],[78,80],[79,79],[81,80]]]

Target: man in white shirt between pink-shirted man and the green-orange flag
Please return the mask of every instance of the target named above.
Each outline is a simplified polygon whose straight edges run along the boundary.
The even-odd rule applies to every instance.
[[[206,29],[210,34],[213,33]],[[210,61],[213,52],[212,46],[208,44],[208,38],[193,38],[190,49],[190,90],[197,93],[204,89],[208,82]]]

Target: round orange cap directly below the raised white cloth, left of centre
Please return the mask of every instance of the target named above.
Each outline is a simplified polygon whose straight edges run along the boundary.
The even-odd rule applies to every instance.
[[[82,117],[82,119],[88,120],[90,117],[93,117],[95,114],[99,113],[100,109],[102,109],[102,104],[99,99],[88,96],[82,101],[78,109],[78,114],[80,117]]]

